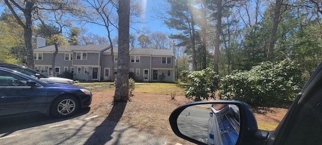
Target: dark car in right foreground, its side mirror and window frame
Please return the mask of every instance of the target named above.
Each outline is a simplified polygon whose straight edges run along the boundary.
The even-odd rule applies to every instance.
[[[237,106],[240,119],[237,129],[231,129],[233,121],[224,124],[228,126],[226,130],[232,130],[233,134],[210,132],[207,129],[210,104]],[[258,129],[251,108],[241,101],[216,100],[185,104],[172,112],[169,121],[175,134],[197,144],[322,144],[322,63],[298,93],[274,131]],[[237,137],[227,138],[235,135]]]

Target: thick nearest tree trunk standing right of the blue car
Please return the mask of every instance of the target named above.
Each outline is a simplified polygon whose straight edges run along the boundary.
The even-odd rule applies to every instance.
[[[119,1],[119,50],[114,104],[129,99],[130,0]]]

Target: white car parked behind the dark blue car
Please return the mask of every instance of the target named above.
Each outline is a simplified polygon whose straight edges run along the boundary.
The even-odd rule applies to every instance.
[[[36,70],[29,69],[26,66],[21,66],[17,64],[11,64],[11,63],[0,63],[0,66],[19,71],[20,73],[39,79],[40,81],[45,81],[48,83],[56,83],[56,84],[75,85],[75,82],[73,80],[60,78],[60,77],[48,77],[46,75],[40,74]]]

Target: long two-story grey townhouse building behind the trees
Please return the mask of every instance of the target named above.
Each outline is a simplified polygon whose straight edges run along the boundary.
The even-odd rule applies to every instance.
[[[34,49],[35,69],[52,76],[52,54],[54,45]],[[74,74],[79,81],[112,81],[111,75],[117,75],[118,47],[113,47],[114,71],[111,49],[108,45],[67,46],[58,48],[55,59],[55,71]],[[129,49],[129,72],[135,74],[136,82],[174,82],[175,53],[170,49]]]

